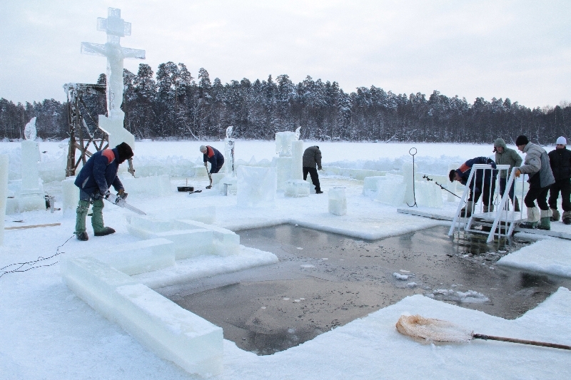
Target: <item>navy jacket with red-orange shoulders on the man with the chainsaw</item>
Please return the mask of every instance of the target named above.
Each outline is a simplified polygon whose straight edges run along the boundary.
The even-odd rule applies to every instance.
[[[75,185],[90,196],[97,191],[105,194],[111,185],[116,191],[123,189],[123,184],[117,177],[118,157],[117,148],[99,150],[94,153],[81,168]]]

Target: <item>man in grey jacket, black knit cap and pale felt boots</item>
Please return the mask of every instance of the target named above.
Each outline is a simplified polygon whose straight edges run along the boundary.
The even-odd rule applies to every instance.
[[[549,155],[540,145],[530,143],[530,139],[525,135],[517,136],[515,139],[517,149],[525,153],[523,166],[515,170],[515,177],[518,178],[522,174],[529,175],[530,190],[523,201],[527,207],[527,222],[522,223],[522,228],[540,228],[541,230],[551,230],[552,212],[547,205],[547,192],[550,185],[555,183],[551,166],[549,163]],[[539,205],[541,212],[535,207],[535,200]],[[540,222],[541,220],[541,222]],[[538,222],[540,224],[538,225]]]

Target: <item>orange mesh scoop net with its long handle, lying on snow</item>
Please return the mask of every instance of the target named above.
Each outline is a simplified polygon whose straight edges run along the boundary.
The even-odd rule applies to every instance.
[[[420,315],[401,315],[396,324],[398,332],[415,339],[420,343],[430,342],[455,342],[465,343],[471,339],[497,340],[501,342],[512,342],[520,344],[531,344],[532,346],[551,347],[554,349],[570,349],[571,346],[565,344],[536,342],[526,339],[515,339],[505,337],[494,337],[492,335],[474,334],[452,322],[442,319],[425,318]]]

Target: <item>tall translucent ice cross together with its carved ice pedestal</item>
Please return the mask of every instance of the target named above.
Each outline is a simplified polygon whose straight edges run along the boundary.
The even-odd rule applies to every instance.
[[[99,127],[108,133],[110,146],[125,142],[134,150],[135,137],[123,128],[123,59],[145,59],[145,51],[121,46],[121,37],[131,36],[131,23],[121,19],[121,9],[109,8],[107,19],[98,17],[97,30],[106,32],[107,42],[104,45],[82,42],[81,53],[107,57],[108,116],[99,115]]]

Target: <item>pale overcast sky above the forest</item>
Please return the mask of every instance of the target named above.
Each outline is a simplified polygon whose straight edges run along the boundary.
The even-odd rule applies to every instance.
[[[108,7],[132,24],[125,60],[206,68],[223,83],[288,74],[394,93],[571,101],[571,0],[0,0],[0,98],[65,100],[64,83],[95,83],[106,58],[80,54]]]

